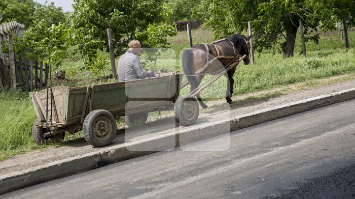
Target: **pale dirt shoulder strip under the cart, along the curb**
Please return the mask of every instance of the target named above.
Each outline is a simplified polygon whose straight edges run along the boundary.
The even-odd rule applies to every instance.
[[[201,110],[199,119],[195,125],[207,124],[211,121],[247,114],[353,87],[355,87],[355,75],[344,75],[324,80],[313,80],[302,84],[288,85],[248,95],[235,96],[232,98],[234,103],[231,105],[227,104],[224,100],[210,101],[207,103],[210,108],[207,110]],[[188,127],[176,127],[175,119],[171,114],[156,116],[154,118],[149,118],[149,122],[142,127],[119,130],[115,140],[110,146],[114,144],[125,144],[137,140],[139,141],[167,132],[178,131],[181,128],[184,129]],[[103,149],[103,147],[93,147],[83,141],[79,143],[65,143],[42,150],[34,150],[1,161],[0,174],[22,171],[101,149]]]

